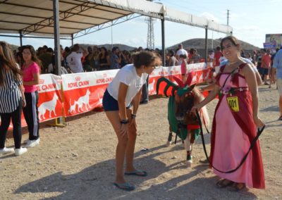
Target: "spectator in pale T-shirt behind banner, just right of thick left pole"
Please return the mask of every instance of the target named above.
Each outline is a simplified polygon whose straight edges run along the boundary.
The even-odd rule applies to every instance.
[[[83,52],[80,52],[82,49]],[[66,57],[66,61],[68,63],[68,67],[71,68],[73,73],[83,73],[81,58],[87,55],[86,49],[79,44],[74,44],[71,49],[71,54]]]

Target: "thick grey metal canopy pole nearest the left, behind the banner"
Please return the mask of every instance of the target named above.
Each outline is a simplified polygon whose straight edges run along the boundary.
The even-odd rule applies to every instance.
[[[61,75],[61,48],[60,48],[60,28],[59,28],[59,0],[53,0],[54,16],[54,53],[56,75]]]

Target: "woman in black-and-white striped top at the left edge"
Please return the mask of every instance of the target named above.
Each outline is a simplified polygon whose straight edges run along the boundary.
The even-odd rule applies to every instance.
[[[25,96],[23,95],[20,68],[13,58],[8,44],[0,42],[0,154],[15,152],[16,156],[20,156],[27,152],[26,148],[20,146],[22,106],[25,106]],[[6,134],[11,119],[15,150],[5,147]]]

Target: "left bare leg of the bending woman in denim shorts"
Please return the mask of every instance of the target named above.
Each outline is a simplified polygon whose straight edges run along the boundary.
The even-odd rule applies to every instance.
[[[128,136],[121,135],[121,122],[118,111],[106,111],[105,113],[111,125],[114,127],[116,136],[118,137],[118,145],[116,146],[116,183],[125,183],[123,175],[123,163],[125,158],[126,144],[128,143]]]

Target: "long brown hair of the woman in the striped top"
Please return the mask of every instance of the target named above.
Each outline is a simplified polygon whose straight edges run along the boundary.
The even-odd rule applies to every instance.
[[[0,86],[4,84],[4,70],[12,70],[16,80],[22,75],[8,43],[0,41]]]

